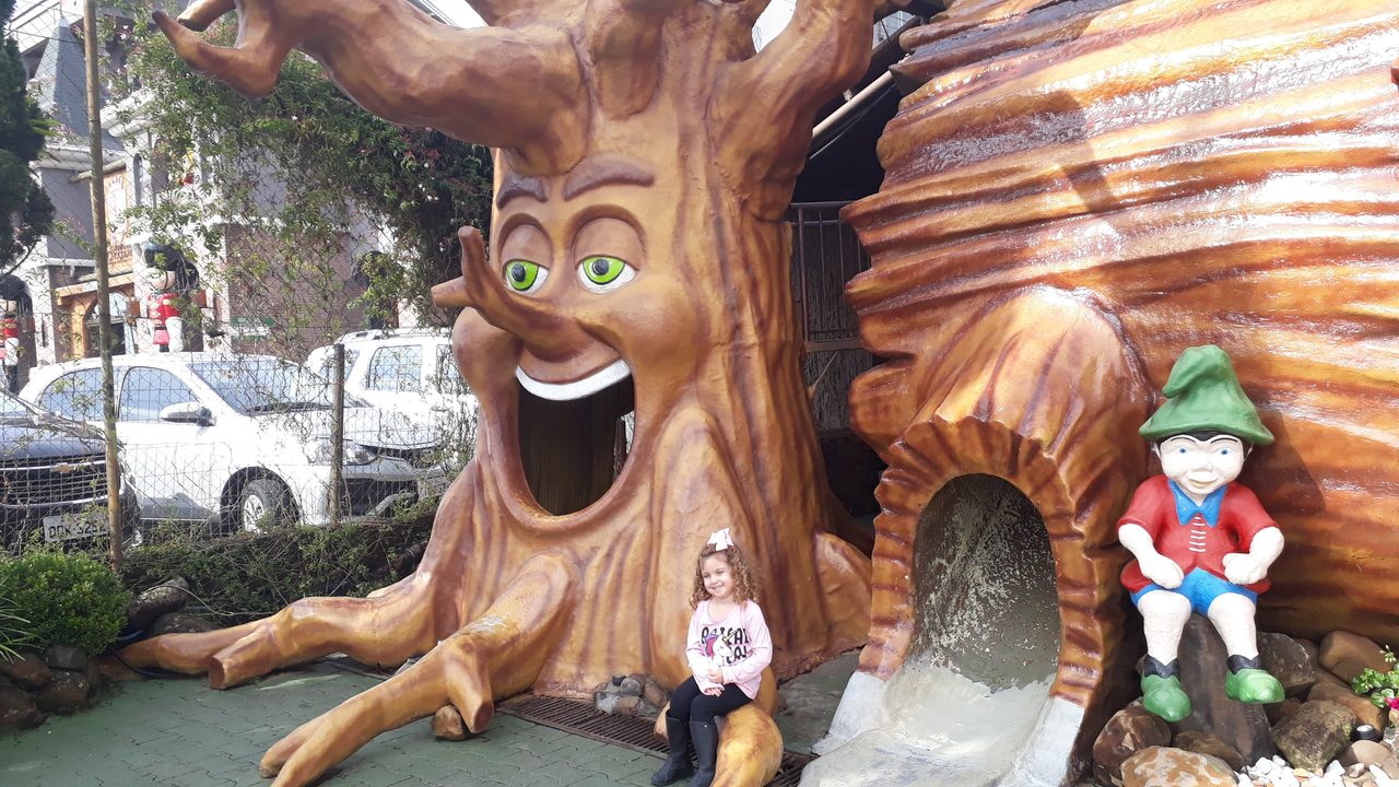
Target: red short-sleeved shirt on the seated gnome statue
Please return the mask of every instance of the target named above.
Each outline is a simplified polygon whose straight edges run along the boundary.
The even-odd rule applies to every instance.
[[[1189,521],[1181,522],[1171,492],[1171,479],[1151,476],[1132,496],[1128,513],[1118,520],[1118,527],[1137,525],[1151,536],[1156,550],[1175,560],[1181,571],[1203,569],[1221,580],[1224,577],[1224,556],[1233,552],[1248,552],[1259,531],[1276,528],[1277,522],[1263,511],[1262,503],[1251,489],[1238,483],[1224,487],[1224,499],[1219,504],[1219,521],[1214,527],[1205,515],[1195,511]],[[1122,569],[1122,584],[1130,592],[1137,592],[1151,580],[1142,574],[1142,567],[1132,560]],[[1244,585],[1254,592],[1266,591],[1272,583],[1267,578]]]

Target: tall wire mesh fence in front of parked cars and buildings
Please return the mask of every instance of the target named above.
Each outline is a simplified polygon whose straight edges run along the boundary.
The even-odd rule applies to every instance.
[[[471,455],[477,402],[427,287],[453,274],[441,238],[485,225],[488,153],[369,118],[309,60],[243,101],[141,29],[151,10],[102,6],[101,168],[81,4],[21,0],[7,21],[53,123],[32,171],[56,227],[0,266],[0,543],[106,531],[92,178],[132,542],[431,506]]]

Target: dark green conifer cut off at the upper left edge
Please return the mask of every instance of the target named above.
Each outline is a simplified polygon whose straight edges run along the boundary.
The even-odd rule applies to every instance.
[[[0,0],[8,20],[14,0]],[[29,174],[43,150],[46,119],[25,92],[24,60],[13,38],[0,48],[0,274],[18,267],[53,227],[53,203]]]

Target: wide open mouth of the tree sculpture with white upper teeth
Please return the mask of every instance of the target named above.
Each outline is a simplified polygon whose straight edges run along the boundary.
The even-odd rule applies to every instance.
[[[574,382],[516,368],[520,464],[534,500],[554,515],[592,506],[621,475],[634,431],[631,368],[621,360]],[[634,420],[634,419],[632,419]]]

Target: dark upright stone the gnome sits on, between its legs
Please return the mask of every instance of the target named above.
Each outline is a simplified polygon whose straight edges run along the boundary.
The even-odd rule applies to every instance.
[[[1214,626],[1199,615],[1191,615],[1179,653],[1181,688],[1189,695],[1193,710],[1177,727],[1213,734],[1242,755],[1245,762],[1276,755],[1263,706],[1238,703],[1224,695],[1228,651]]]

